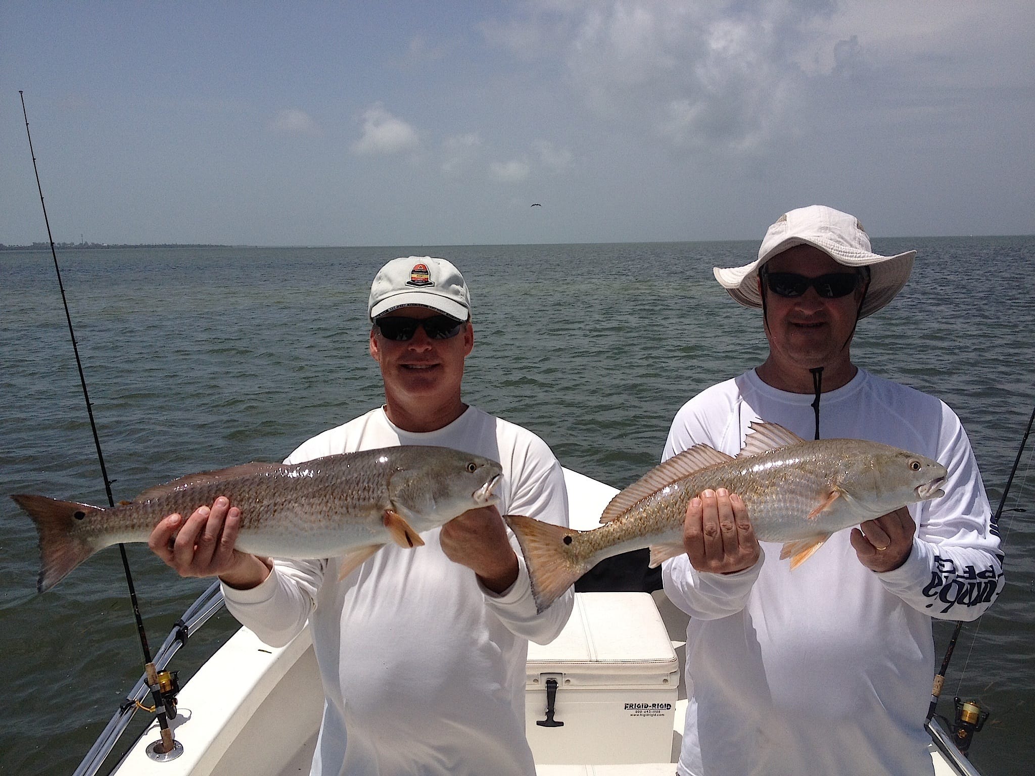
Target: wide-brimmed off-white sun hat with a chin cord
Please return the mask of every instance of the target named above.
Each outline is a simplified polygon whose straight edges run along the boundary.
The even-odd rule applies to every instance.
[[[873,252],[869,237],[854,215],[824,205],[789,210],[766,232],[759,258],[743,267],[714,267],[715,279],[730,296],[747,307],[761,307],[759,269],[795,245],[811,245],[846,267],[869,267],[869,286],[859,318],[876,312],[894,299],[913,270],[915,250],[895,256]]]

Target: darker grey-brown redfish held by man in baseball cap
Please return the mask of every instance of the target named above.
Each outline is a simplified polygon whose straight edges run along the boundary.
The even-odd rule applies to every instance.
[[[187,475],[148,488],[117,507],[46,496],[11,498],[36,524],[40,571],[50,590],[99,549],[147,541],[169,514],[186,516],[218,496],[241,510],[235,547],[283,558],[345,556],[342,576],[389,541],[423,544],[422,531],[469,509],[496,504],[495,460],[445,447],[401,446],[343,453],[304,464],[252,462]]]

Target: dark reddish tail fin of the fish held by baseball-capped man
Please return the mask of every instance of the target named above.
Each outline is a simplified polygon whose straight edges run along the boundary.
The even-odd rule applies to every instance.
[[[72,529],[83,517],[101,509],[100,507],[73,501],[57,501],[46,496],[20,494],[10,498],[32,518],[39,533],[38,592],[45,593],[53,588],[65,574],[98,549],[89,540],[75,535]]]

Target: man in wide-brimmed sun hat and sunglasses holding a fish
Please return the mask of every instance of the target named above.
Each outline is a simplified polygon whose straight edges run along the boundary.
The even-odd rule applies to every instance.
[[[949,475],[944,497],[835,533],[794,571],[778,545],[756,540],[736,494],[691,501],[686,555],[662,568],[690,615],[679,774],[933,773],[930,619],[976,619],[1003,575],[958,418],[851,359],[857,322],[903,288],[915,252],[874,253],[855,217],[811,206],[780,216],[757,261],[714,270],[734,299],[761,307],[769,355],[683,406],[664,458],[696,444],[736,455],[766,420],[804,439],[883,442]]]

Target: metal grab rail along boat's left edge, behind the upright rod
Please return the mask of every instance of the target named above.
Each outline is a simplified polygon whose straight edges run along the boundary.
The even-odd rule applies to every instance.
[[[221,606],[223,589],[219,587],[218,581],[214,581],[204,593],[198,596],[195,602],[183,613],[183,616],[176,621],[173,629],[166,636],[166,640],[162,641],[161,647],[158,648],[158,651],[154,655],[155,669],[162,670],[169,665],[173,655],[179,651],[180,647],[186,644],[189,635],[204,625]],[[132,720],[134,715],[137,713],[137,709],[140,708],[139,704],[147,696],[148,692],[150,692],[150,688],[148,687],[147,674],[145,673],[141,675],[137,684],[134,685],[132,690],[129,691],[119,706],[119,710],[109,720],[105,729],[101,730],[93,746],[90,747],[86,756],[83,757],[72,776],[94,776],[100,770],[100,766],[112,749],[115,748],[115,744],[122,736],[122,733],[128,727],[130,720]]]

